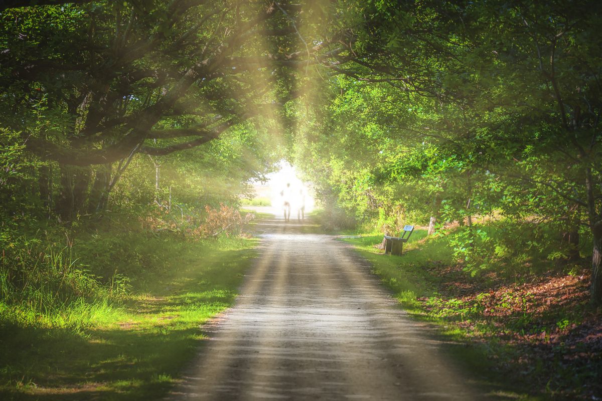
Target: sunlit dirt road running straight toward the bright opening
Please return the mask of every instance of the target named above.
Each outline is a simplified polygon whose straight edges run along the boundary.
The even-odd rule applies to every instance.
[[[265,221],[237,305],[170,400],[482,399],[344,243]],[[384,257],[384,256],[383,256]]]

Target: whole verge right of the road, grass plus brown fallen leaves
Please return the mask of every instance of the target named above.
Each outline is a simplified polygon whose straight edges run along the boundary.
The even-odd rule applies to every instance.
[[[452,260],[444,237],[417,230],[403,256],[374,248],[382,235],[344,239],[373,265],[400,304],[429,320],[450,347],[499,396],[515,399],[596,399],[602,391],[600,310],[588,305],[588,271],[565,272],[549,263],[537,274],[523,269],[472,276]]]

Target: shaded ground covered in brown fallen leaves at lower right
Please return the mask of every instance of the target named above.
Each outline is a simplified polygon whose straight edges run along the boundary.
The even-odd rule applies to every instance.
[[[494,274],[466,280],[461,266],[433,263],[429,269],[444,278],[438,292],[455,302],[456,316],[443,313],[445,302],[420,301],[474,341],[495,338],[514,349],[498,363],[501,375],[528,382],[534,391],[547,389],[554,399],[602,398],[602,310],[589,305],[589,269],[526,274],[523,283]]]

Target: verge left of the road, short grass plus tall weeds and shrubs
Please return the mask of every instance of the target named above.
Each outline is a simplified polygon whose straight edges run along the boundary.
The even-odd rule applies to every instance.
[[[40,284],[38,298],[21,291],[20,302],[0,301],[1,399],[161,397],[203,343],[199,325],[232,304],[255,256],[253,239],[104,224],[71,239],[55,263],[59,276],[102,290],[79,296],[85,280],[66,287],[66,278],[63,298]],[[75,293],[65,298],[66,289]]]

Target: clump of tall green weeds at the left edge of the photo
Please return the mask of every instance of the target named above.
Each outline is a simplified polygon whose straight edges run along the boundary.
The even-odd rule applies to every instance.
[[[15,231],[12,231],[14,234]],[[40,231],[2,236],[0,317],[19,326],[61,327],[81,331],[99,311],[112,310],[113,288],[75,257],[72,242]],[[42,245],[46,243],[46,245]]]

